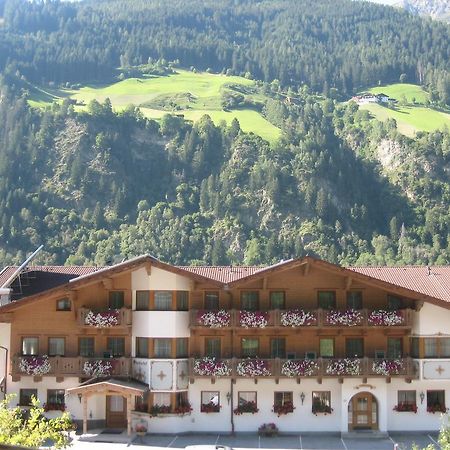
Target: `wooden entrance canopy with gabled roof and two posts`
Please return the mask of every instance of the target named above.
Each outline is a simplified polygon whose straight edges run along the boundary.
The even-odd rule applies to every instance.
[[[83,401],[83,434],[87,433],[88,407],[87,401],[93,395],[121,395],[127,399],[127,431],[131,434],[131,405],[133,396],[143,395],[148,391],[148,385],[134,380],[116,378],[93,378],[77,387],[67,389],[68,394],[78,395]]]

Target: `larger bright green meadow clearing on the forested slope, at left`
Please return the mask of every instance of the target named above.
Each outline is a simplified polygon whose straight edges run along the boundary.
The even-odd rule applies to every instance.
[[[254,104],[264,101],[264,96],[252,92],[254,84],[254,81],[242,77],[178,70],[176,74],[169,76],[129,78],[110,85],[84,86],[77,90],[34,88],[30,92],[29,102],[34,107],[45,107],[64,97],[70,97],[78,105],[88,105],[91,100],[103,102],[109,98],[116,110],[133,104],[139,106],[146,117],[154,119],[159,119],[168,112],[183,114],[186,119],[193,121],[209,114],[215,123],[222,120],[230,123],[236,117],[244,131],[275,142],[281,134],[280,129],[268,122],[256,108],[245,107],[231,111],[222,109],[221,95],[225,90],[244,91],[245,97]]]

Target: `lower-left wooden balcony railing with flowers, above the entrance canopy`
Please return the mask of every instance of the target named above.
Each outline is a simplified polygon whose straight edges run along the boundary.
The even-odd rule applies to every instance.
[[[131,375],[131,358],[85,358],[82,356],[13,356],[11,376],[19,381],[22,376],[33,376],[40,381],[43,376],[56,377],[63,381],[65,377],[94,378],[97,376]]]

